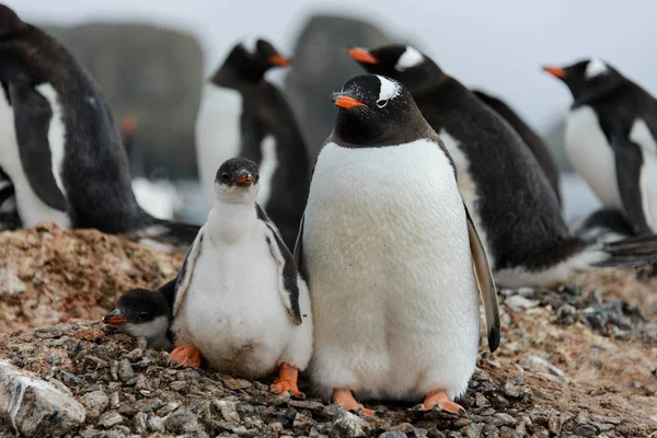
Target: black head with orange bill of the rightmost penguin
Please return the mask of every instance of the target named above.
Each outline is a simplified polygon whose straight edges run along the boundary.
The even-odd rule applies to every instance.
[[[573,93],[575,102],[588,101],[602,95],[626,79],[600,58],[585,59],[567,67],[543,67],[543,70],[561,79]]]

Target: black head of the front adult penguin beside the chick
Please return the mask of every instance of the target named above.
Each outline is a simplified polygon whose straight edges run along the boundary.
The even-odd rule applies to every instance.
[[[334,134],[355,147],[407,142],[426,125],[408,91],[382,76],[350,79],[331,95],[331,102],[339,108]]]

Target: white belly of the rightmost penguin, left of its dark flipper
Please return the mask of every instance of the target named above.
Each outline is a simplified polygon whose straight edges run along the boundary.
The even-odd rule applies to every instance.
[[[566,122],[566,152],[600,201],[622,209],[613,150],[590,106],[570,112]]]

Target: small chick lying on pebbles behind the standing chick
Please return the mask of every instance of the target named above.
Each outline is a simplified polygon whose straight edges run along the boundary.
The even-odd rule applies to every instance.
[[[132,337],[145,338],[151,348],[170,350],[173,347],[170,328],[176,281],[174,278],[158,290],[136,288],[126,291],[116,302],[116,309],[103,316],[103,322]]]

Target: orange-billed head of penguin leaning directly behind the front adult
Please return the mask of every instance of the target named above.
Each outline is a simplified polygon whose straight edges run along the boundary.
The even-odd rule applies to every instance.
[[[438,85],[445,78],[436,62],[412,46],[391,44],[372,50],[350,47],[347,53],[369,73],[401,82],[414,96]]]

